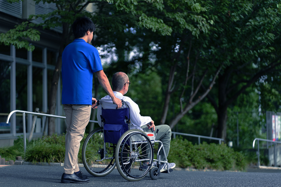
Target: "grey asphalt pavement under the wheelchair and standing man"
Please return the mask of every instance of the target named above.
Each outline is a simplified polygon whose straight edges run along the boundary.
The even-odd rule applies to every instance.
[[[152,180],[149,175],[137,182],[125,180],[114,169],[104,177],[91,176],[84,167],[82,172],[91,180],[83,184],[63,184],[60,178],[63,173],[61,166],[38,165],[7,165],[0,167],[0,187],[49,187],[49,186],[83,186],[83,187],[281,187],[281,170],[262,170],[249,168],[248,172],[175,169],[171,173],[161,173],[158,180]]]

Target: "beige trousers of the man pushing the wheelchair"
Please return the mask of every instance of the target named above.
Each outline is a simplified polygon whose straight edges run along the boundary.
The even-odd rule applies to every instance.
[[[79,171],[78,152],[91,116],[91,105],[63,104],[66,116],[64,173]]]

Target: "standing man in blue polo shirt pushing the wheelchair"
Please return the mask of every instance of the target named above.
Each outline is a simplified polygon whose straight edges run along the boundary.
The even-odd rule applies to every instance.
[[[65,47],[61,67],[62,104],[66,116],[65,160],[61,182],[85,183],[90,179],[79,170],[78,152],[90,120],[91,106],[97,102],[92,98],[94,72],[117,108],[122,106],[122,102],[113,94],[103,72],[99,53],[90,44],[95,30],[94,23],[87,17],[79,17],[74,21],[72,30],[75,40]]]

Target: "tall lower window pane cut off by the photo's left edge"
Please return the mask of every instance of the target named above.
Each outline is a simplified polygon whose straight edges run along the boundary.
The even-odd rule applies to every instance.
[[[10,88],[11,88],[11,63],[0,60],[0,134],[10,133],[10,124],[6,124],[10,112]]]

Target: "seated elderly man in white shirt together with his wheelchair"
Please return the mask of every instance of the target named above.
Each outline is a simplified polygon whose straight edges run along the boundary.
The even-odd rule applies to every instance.
[[[108,95],[98,101],[97,120],[100,128],[92,131],[84,142],[83,164],[94,176],[105,176],[116,166],[129,181],[140,180],[148,172],[152,179],[158,179],[160,172],[169,173],[175,167],[174,163],[168,163],[167,160],[171,128],[168,125],[155,126],[151,117],[140,115],[138,105],[124,96],[129,85],[125,73],[113,75],[113,92],[123,105],[116,110],[116,105]],[[155,142],[159,143],[157,159],[153,159]]]

